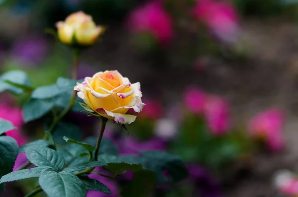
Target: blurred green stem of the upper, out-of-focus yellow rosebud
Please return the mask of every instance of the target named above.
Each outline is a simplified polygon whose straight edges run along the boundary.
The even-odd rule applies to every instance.
[[[76,80],[76,73],[77,73],[77,66],[78,66],[78,60],[80,57],[80,51],[74,49],[74,60],[73,60],[73,71],[72,71],[72,79]],[[57,126],[58,122],[72,109],[74,105],[74,99],[75,99],[76,91],[74,90],[72,93],[72,97],[70,100],[69,105],[54,119],[54,122],[49,128],[49,132],[52,133]]]

